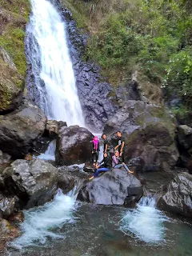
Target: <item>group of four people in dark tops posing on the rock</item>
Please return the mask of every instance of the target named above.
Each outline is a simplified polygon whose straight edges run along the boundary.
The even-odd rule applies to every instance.
[[[95,172],[90,179],[93,179],[98,176],[101,172],[106,172],[112,168],[121,168],[122,166],[126,169],[127,172],[133,174],[134,172],[129,170],[124,162],[124,150],[125,150],[125,140],[122,138],[122,133],[118,131],[117,133],[117,145],[114,147],[114,155],[111,158],[107,153],[109,148],[108,140],[106,134],[102,134],[103,142],[103,159],[101,162],[98,162],[98,154],[100,151],[98,137],[95,136],[92,142],[92,162],[95,167]]]

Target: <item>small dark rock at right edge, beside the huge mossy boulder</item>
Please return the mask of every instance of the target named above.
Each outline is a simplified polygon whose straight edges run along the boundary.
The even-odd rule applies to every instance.
[[[178,143],[185,150],[192,147],[192,128],[186,125],[178,126]]]

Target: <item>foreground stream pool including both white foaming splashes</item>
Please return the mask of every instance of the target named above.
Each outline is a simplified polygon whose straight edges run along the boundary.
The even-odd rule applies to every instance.
[[[22,236],[7,255],[191,255],[192,226],[157,210],[154,198],[126,209],[77,202],[74,190],[58,190],[52,202],[24,211]]]

